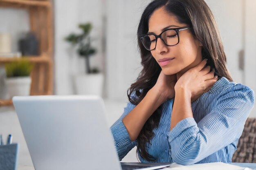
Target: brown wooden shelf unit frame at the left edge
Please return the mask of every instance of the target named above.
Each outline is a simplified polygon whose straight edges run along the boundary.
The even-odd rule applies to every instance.
[[[21,57],[34,64],[30,95],[52,95],[54,46],[52,0],[0,0],[0,7],[22,8],[28,11],[30,31],[38,39],[40,53],[39,56]],[[15,60],[20,60],[20,57],[0,56],[0,65]],[[11,99],[0,99],[0,106],[8,105],[12,105]]]

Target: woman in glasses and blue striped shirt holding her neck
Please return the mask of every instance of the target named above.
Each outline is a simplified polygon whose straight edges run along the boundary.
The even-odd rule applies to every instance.
[[[231,162],[255,96],[232,82],[204,0],[154,0],[138,27],[143,70],[111,131],[121,160]]]

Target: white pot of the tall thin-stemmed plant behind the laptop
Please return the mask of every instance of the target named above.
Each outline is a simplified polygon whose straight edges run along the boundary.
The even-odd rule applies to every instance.
[[[102,97],[104,81],[102,73],[76,75],[74,81],[77,95],[98,95]]]

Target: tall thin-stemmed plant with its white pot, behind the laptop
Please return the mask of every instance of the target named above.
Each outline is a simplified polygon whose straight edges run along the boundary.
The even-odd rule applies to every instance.
[[[90,57],[97,52],[91,46],[92,24],[88,22],[79,24],[78,27],[81,29],[80,34],[71,33],[65,38],[74,48],[77,48],[79,56],[85,58],[86,73],[74,77],[76,94],[102,96],[103,74],[99,72],[98,68],[91,68],[90,66]]]

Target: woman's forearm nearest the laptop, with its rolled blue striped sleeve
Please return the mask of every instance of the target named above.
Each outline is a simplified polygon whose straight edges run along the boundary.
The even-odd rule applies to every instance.
[[[111,126],[119,159],[136,146],[136,139],[147,119],[163,103],[155,88],[150,89],[144,99],[135,106],[128,103],[123,115]]]

